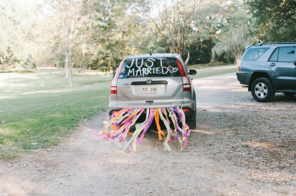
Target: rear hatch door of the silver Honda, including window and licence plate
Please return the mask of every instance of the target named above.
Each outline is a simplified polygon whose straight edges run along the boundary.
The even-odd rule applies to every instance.
[[[175,57],[127,58],[117,81],[117,101],[183,99],[183,83]]]

